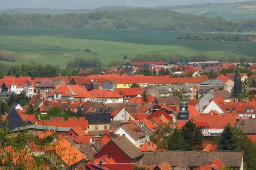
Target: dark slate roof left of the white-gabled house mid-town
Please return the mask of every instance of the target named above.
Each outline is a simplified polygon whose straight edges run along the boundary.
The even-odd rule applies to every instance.
[[[85,117],[89,124],[110,123],[111,121],[111,113],[85,113],[81,114],[81,117]]]

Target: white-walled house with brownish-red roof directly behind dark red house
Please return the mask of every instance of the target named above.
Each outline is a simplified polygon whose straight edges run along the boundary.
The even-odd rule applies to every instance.
[[[115,134],[125,135],[138,148],[145,143],[145,133],[134,122],[120,126]]]

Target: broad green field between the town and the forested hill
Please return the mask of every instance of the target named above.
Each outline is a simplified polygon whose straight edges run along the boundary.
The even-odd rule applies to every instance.
[[[53,64],[62,67],[74,57],[98,57],[108,64],[113,59],[122,59],[124,55],[129,59],[146,52],[185,56],[207,54],[216,58],[249,57],[256,54],[254,42],[176,39],[180,34],[180,32],[167,31],[0,27],[0,49],[14,51],[18,63],[35,61],[44,65]],[[191,34],[207,35],[207,33]],[[210,35],[217,34],[221,33]],[[228,36],[237,35],[228,34]],[[246,37],[246,34],[239,36]],[[98,54],[85,52],[85,48]]]

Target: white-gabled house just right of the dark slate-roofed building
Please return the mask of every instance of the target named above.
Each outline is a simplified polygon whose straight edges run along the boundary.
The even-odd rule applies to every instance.
[[[122,107],[111,113],[111,120],[135,120],[135,118],[125,107]]]

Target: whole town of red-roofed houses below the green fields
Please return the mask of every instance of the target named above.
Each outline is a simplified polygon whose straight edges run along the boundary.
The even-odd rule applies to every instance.
[[[0,79],[0,169],[256,168],[256,65],[127,62]]]

